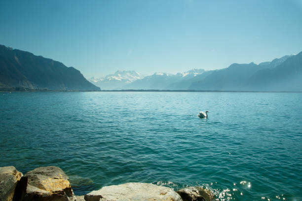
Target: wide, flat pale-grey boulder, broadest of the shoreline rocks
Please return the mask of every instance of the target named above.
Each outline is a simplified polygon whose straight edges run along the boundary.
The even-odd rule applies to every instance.
[[[173,189],[148,183],[105,186],[84,198],[85,201],[182,201]]]

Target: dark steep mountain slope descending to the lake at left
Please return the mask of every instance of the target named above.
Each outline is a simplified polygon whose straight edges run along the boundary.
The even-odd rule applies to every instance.
[[[0,90],[99,91],[74,67],[0,45]]]

